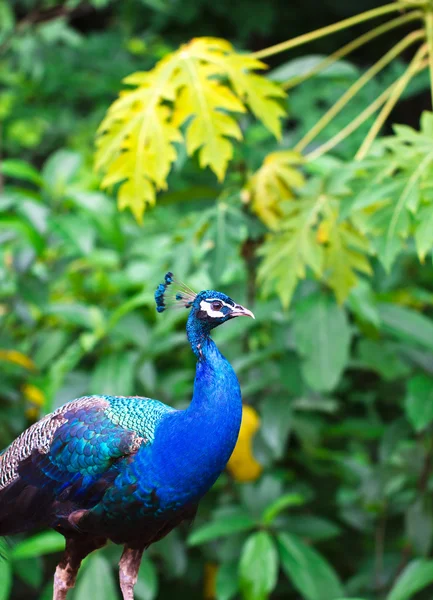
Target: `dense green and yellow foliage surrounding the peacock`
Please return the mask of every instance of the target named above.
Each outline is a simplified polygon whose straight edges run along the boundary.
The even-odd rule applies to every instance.
[[[0,447],[84,394],[188,403],[168,269],[256,314],[215,334],[235,455],[139,600],[433,590],[433,6],[261,51],[353,15],[287,4],[0,0]],[[62,544],[5,545],[0,599],[50,598]],[[72,597],[118,598],[118,558]]]

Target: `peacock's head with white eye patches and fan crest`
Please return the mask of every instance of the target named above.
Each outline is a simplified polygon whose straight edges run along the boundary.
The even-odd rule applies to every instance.
[[[171,293],[167,291],[170,286]],[[216,290],[204,290],[194,293],[185,284],[167,273],[165,282],[155,292],[156,310],[164,311],[168,306],[180,306],[191,309],[189,323],[196,323],[204,331],[225,323],[235,317],[252,317],[254,314],[241,304],[236,304],[229,296]]]

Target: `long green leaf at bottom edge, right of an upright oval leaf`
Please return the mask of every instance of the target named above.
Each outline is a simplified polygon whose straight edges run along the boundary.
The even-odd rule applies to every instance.
[[[282,567],[295,588],[307,600],[337,600],[343,594],[340,581],[326,560],[293,534],[277,536]]]

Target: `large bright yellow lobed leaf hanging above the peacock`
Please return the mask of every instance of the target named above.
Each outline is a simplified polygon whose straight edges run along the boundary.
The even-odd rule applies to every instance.
[[[237,53],[226,40],[196,38],[169,54],[148,72],[133,73],[98,130],[96,169],[102,187],[118,189],[119,208],[141,220],[158,190],[165,189],[185,141],[223,180],[242,138],[236,115],[249,108],[277,137],[285,96],[278,84],[253,70],[266,65]],[[184,133],[184,135],[183,135]]]

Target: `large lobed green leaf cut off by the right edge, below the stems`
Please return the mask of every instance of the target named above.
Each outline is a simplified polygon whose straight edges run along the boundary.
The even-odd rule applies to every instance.
[[[354,217],[387,271],[411,237],[421,261],[433,245],[429,235],[433,151],[426,114],[421,131],[399,125],[394,127],[395,135],[378,140],[375,156],[359,163],[361,185],[354,187],[361,192],[345,206],[346,215],[357,213]]]

